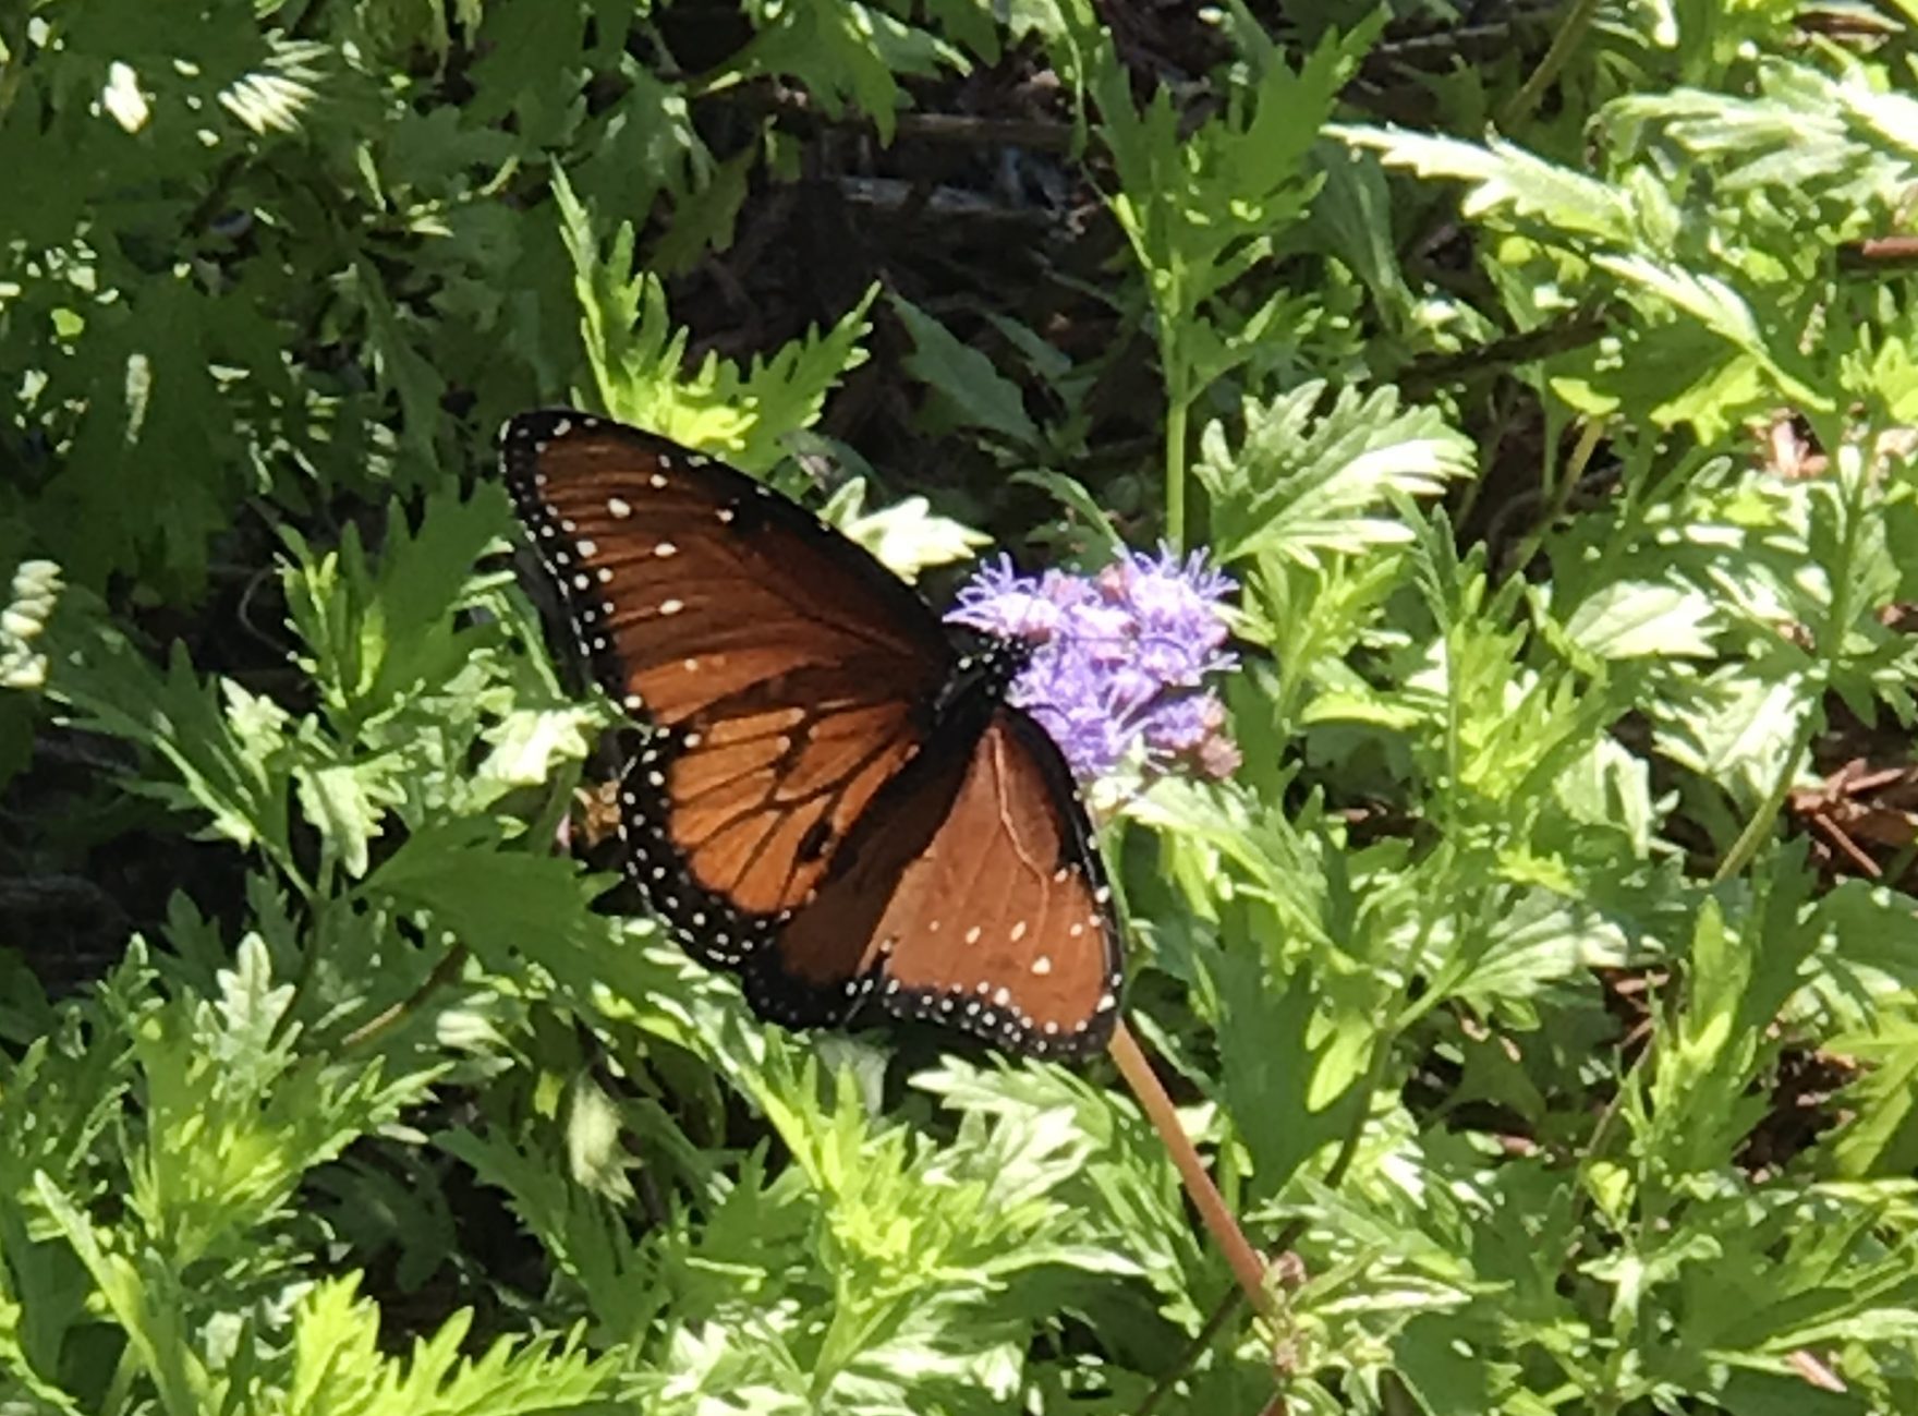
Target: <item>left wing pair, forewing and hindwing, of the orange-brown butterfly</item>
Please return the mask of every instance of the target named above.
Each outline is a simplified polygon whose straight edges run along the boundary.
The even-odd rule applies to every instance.
[[[623,791],[629,869],[735,963],[917,752],[944,631],[863,549],[666,439],[550,411],[501,451],[595,677],[654,729]]]

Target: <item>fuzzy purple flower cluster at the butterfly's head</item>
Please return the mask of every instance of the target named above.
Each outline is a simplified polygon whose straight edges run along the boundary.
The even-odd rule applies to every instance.
[[[1237,662],[1220,610],[1231,589],[1199,551],[1183,560],[1170,547],[1132,551],[1097,576],[1020,576],[999,556],[946,618],[1034,645],[1011,698],[1053,735],[1080,781],[1107,775],[1135,744],[1153,769],[1229,777],[1239,750],[1205,675]]]

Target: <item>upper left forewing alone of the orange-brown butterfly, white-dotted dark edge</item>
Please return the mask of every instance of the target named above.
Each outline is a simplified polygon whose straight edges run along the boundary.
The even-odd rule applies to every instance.
[[[671,727],[756,691],[769,706],[823,683],[871,691],[855,668],[913,696],[949,670],[938,622],[905,585],[723,462],[560,411],[508,422],[501,453],[579,647],[627,710]],[[806,670],[823,683],[765,693]]]

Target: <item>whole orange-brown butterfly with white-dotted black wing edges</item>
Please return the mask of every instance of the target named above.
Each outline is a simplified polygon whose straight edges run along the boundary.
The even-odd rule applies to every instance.
[[[861,545],[666,437],[545,409],[499,445],[639,729],[621,865],[694,957],[790,1028],[877,1005],[1018,1053],[1105,1048],[1120,927],[1064,758],[1007,702],[1024,643],[949,631]]]

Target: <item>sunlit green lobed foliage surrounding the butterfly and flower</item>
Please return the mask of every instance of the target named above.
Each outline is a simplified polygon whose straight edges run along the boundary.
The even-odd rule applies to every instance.
[[[1918,1410],[1912,25],[0,8],[0,1410]],[[1239,578],[1109,844],[1277,1322],[1109,1067],[593,908],[541,401]]]

